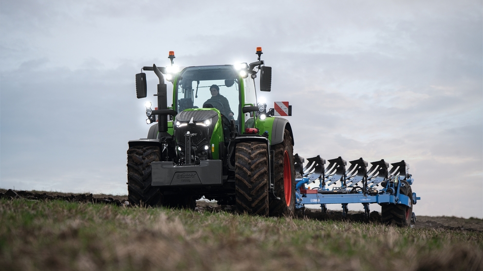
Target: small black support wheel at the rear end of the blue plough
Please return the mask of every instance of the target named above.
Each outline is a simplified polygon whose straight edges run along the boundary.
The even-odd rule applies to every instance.
[[[404,204],[384,204],[381,206],[381,219],[387,225],[410,227],[412,217],[412,189],[407,181],[401,181],[399,192],[409,197],[411,206],[408,207]]]

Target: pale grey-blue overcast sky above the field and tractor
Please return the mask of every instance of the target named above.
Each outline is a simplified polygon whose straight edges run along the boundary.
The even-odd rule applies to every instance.
[[[292,105],[301,156],[405,160],[417,215],[481,218],[482,14],[481,0],[1,0],[0,187],[127,194],[156,89],[149,73],[136,99],[134,74],[168,51],[217,65],[261,46],[262,96]]]

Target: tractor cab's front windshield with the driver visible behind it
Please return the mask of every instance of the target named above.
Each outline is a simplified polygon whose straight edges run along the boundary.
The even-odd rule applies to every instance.
[[[240,84],[232,66],[189,67],[176,84],[175,110],[217,108],[229,119],[238,120]]]

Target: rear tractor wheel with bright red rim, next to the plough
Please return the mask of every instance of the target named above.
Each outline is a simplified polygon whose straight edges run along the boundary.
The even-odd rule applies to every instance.
[[[295,170],[294,146],[290,132],[285,130],[283,142],[274,145],[275,195],[280,198],[270,200],[270,216],[293,217],[295,212]]]

